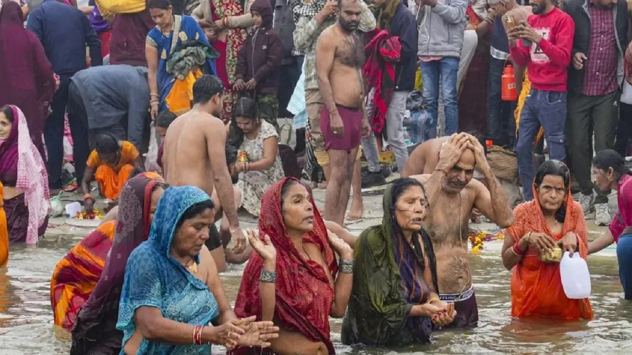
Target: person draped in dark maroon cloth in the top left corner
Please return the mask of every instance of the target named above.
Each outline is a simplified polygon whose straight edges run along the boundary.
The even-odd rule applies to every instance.
[[[24,28],[22,9],[13,1],[0,10],[0,78],[0,106],[24,112],[31,140],[46,160],[42,131],[56,81],[42,43]]]

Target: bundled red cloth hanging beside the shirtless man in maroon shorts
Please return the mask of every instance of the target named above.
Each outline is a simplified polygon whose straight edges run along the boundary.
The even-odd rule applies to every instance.
[[[369,117],[369,122],[372,131],[379,133],[384,129],[386,112],[395,88],[395,65],[400,59],[401,42],[399,37],[381,30],[364,47],[364,52],[367,54],[367,63],[362,68],[362,75],[367,79],[367,87],[375,88],[373,117]]]

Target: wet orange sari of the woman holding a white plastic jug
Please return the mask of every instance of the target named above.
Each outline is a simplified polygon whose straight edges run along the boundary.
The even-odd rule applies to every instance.
[[[566,232],[572,231],[578,237],[580,256],[586,258],[588,256],[586,220],[580,204],[573,201],[570,191],[567,191],[566,217],[562,232],[554,236],[544,220],[537,191],[535,188],[533,190],[534,199],[521,203],[514,209],[514,224],[507,229],[509,234],[518,241],[528,232],[541,232],[552,236],[557,241]],[[559,263],[540,262],[539,255],[536,248],[529,246],[526,255],[514,267],[513,275],[511,275],[511,315],[592,320],[593,311],[588,298],[567,298],[559,275]]]

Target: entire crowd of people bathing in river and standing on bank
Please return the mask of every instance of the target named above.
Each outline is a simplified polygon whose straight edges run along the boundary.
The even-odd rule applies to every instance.
[[[44,235],[51,194],[109,202],[52,275],[71,354],[332,354],[330,316],[344,344],[427,344],[477,326],[478,214],[504,230],[512,316],[593,318],[556,250],[616,242],[632,299],[626,2],[77,2],[0,8],[0,267]],[[413,90],[427,116],[410,142]],[[514,157],[515,208],[490,150]],[[362,188],[382,184],[382,224],[353,236]],[[593,209],[609,229],[589,243]],[[219,273],[246,261],[233,309]]]

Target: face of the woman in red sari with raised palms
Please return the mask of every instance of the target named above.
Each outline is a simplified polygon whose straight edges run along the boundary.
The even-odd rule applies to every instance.
[[[293,183],[283,198],[283,222],[288,231],[309,232],[314,227],[314,211],[305,186]]]

